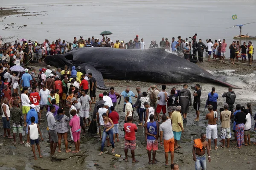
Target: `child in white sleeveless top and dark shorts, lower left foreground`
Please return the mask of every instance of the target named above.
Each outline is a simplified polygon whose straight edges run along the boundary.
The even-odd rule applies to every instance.
[[[31,120],[31,125],[29,125],[29,127],[28,127],[27,143],[29,143],[29,139],[30,139],[30,144],[32,146],[32,152],[33,152],[33,154],[35,156],[35,160],[37,160],[37,157],[35,155],[35,144],[36,144],[36,146],[38,148],[39,157],[40,158],[43,157],[41,155],[41,151],[40,151],[39,140],[38,140],[38,138],[39,138],[38,133],[41,136],[41,140],[44,141],[44,139],[43,139],[41,131],[39,129],[39,125],[35,123],[35,117],[32,116],[30,120]]]

